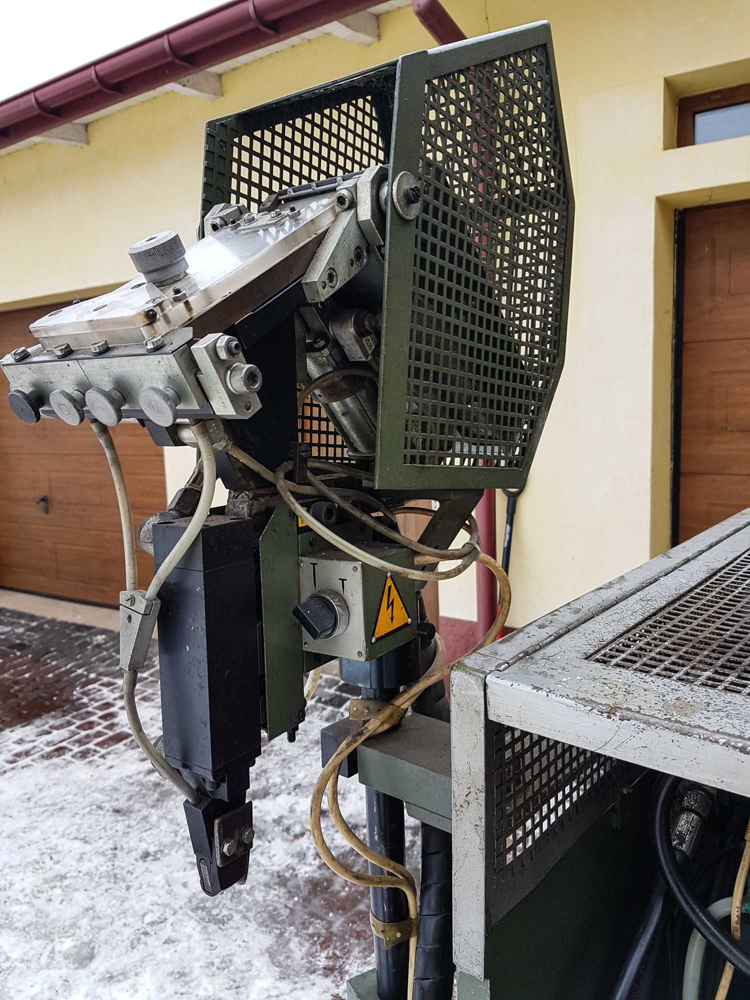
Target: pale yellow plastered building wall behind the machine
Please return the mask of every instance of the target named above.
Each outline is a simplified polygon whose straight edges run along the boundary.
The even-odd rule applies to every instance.
[[[520,625],[668,547],[674,210],[750,197],[750,138],[675,149],[674,106],[750,80],[750,4],[446,6],[469,35],[551,22],[573,163],[568,351],[518,505]],[[85,148],[40,143],[0,158],[0,309],[129,279],[127,248],[149,232],[192,241],[204,119],[432,44],[408,7],[381,16],[380,32],[367,47],[324,36],[243,66],[210,103],[170,93],[98,119]],[[165,458],[172,492],[191,456]],[[470,579],[444,588],[441,611],[473,617]]]

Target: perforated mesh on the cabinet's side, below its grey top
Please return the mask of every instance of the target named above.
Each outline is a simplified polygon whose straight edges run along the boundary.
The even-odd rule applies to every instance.
[[[581,814],[602,812],[617,761],[493,724],[495,876],[512,879]]]

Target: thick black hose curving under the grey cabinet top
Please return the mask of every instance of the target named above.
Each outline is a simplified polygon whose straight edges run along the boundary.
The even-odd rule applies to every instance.
[[[716,948],[725,961],[732,963],[737,972],[741,972],[743,976],[750,978],[750,955],[743,951],[737,942],[724,932],[708,910],[701,906],[695,899],[685,885],[677,865],[674,848],[672,847],[669,810],[681,781],[681,778],[665,775],[657,785],[656,808],[652,818],[652,835],[656,846],[659,869],[667,884],[667,888],[693,927],[697,928],[706,941]]]

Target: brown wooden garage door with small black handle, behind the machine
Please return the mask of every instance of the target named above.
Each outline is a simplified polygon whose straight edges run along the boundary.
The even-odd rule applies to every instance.
[[[66,304],[66,303],[63,303]],[[31,341],[29,323],[54,309],[0,313],[0,355]],[[21,423],[0,375],[0,587],[116,604],[123,586],[117,501],[104,452],[88,422]],[[113,429],[136,526],[165,501],[161,449],[137,426]],[[47,497],[49,513],[44,504]],[[139,551],[138,577],[153,573]]]

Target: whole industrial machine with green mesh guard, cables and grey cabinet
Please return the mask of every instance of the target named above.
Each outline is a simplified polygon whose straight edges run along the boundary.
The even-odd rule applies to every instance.
[[[197,243],[171,231],[136,243],[137,277],[40,319],[36,344],[2,361],[22,420],[89,422],[104,447],[125,541],[128,720],[185,800],[202,889],[245,880],[261,734],[294,739],[338,660],[362,696],[322,732],[310,823],[326,864],[371,891],[375,969],[351,998],[448,1000],[454,958],[462,1000],[665,997],[637,991],[659,977],[672,988],[693,925],[688,989],[704,939],[746,987],[738,934],[696,894],[724,891],[742,851],[746,806],[732,796],[747,792],[750,677],[716,630],[731,620],[746,641],[747,614],[708,595],[704,628],[690,595],[747,559],[747,519],[475,652],[453,671],[450,707],[420,593],[480,562],[500,607],[479,647],[508,612],[472,510],[486,487],[523,486],[563,364],[573,200],[548,26],[209,122],[205,148]],[[108,430],[121,420],[197,449],[184,489],[138,529],[155,562],[145,590]],[[397,522],[414,498],[434,502],[408,508],[425,516],[417,542]],[[670,601],[693,618],[658,624]],[[157,617],[152,742],[135,690]],[[714,629],[708,652],[691,652],[691,628],[701,641]],[[689,781],[666,779],[651,809],[649,768]],[[355,774],[367,843],[337,800]],[[326,842],[326,796],[366,868]],[[422,821],[419,892],[404,806]],[[701,850],[708,875],[688,884],[680,866]]]

